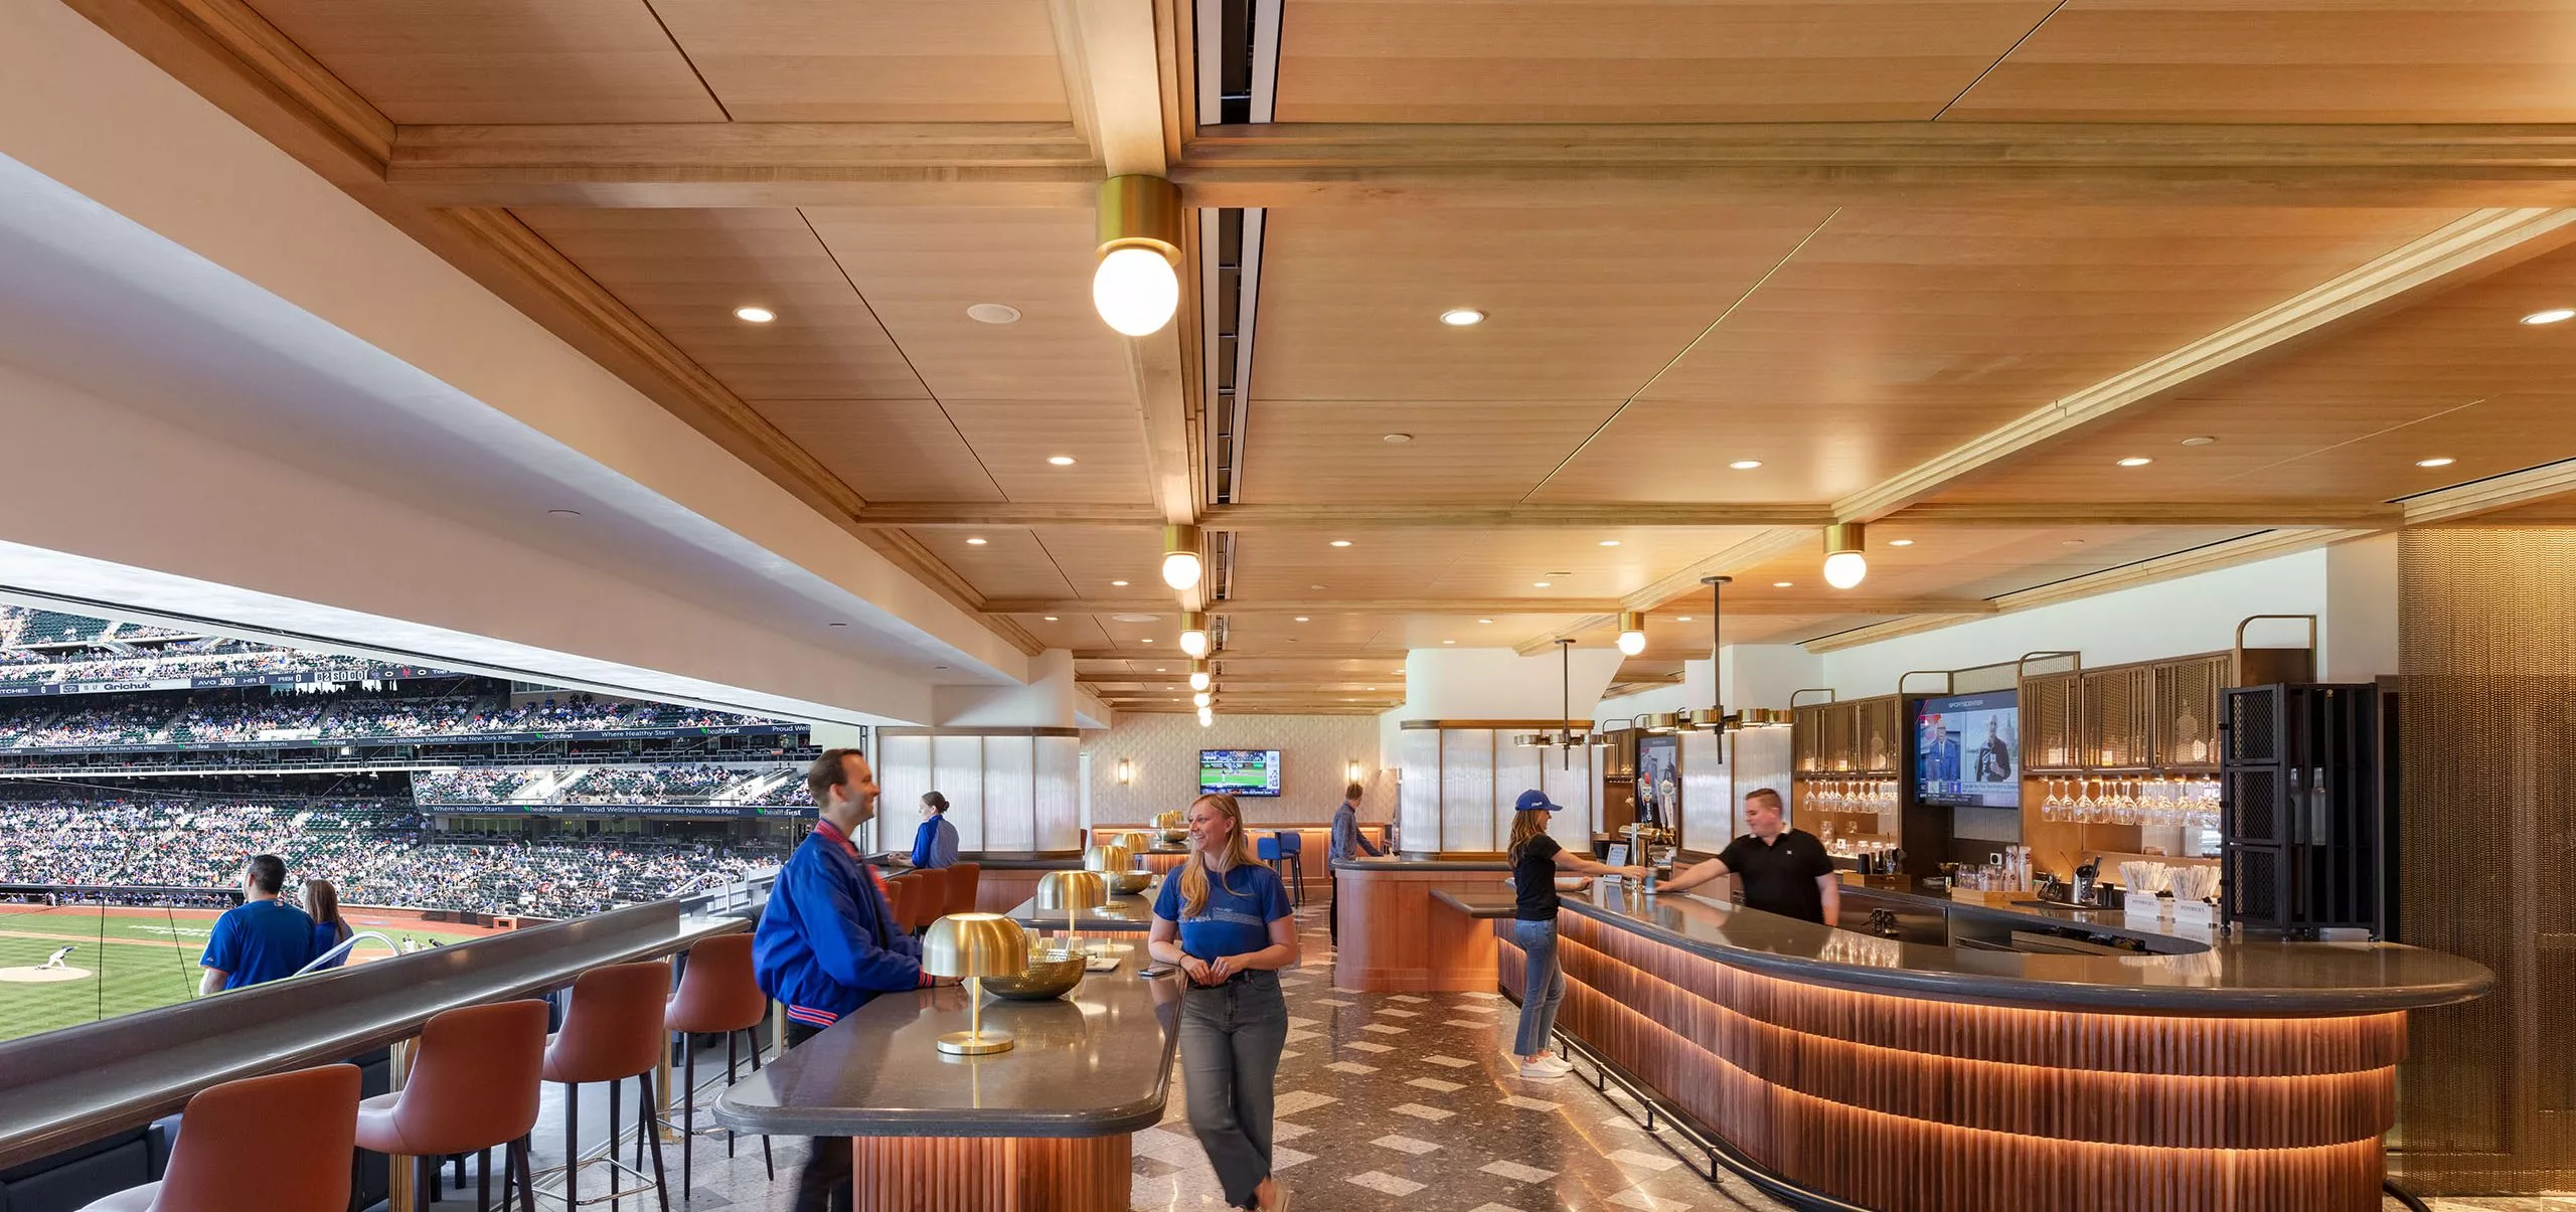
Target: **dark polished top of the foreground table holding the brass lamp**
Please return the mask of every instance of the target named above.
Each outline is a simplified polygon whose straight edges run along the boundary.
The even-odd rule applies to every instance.
[[[886,993],[716,1099],[716,1122],[788,1137],[1105,1137],[1162,1119],[1180,986],[1136,957],[1056,1001],[984,998],[1007,1052],[945,1055],[966,988]]]

